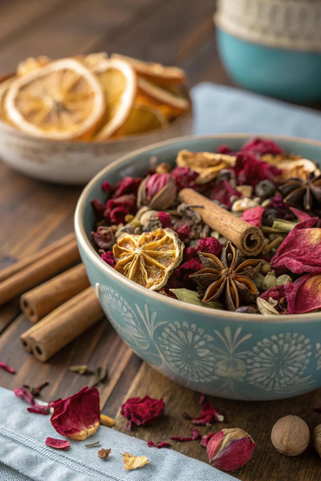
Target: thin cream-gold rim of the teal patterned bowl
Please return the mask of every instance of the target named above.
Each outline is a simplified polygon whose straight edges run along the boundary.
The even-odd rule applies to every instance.
[[[194,304],[189,304],[184,301],[178,301],[177,299],[173,299],[168,296],[162,296],[162,299],[159,298],[160,294],[158,294],[155,291],[150,291],[149,289],[146,289],[142,287],[140,284],[137,284],[133,280],[130,280],[124,276],[122,276],[119,272],[117,272],[113,267],[108,266],[108,264],[103,263],[101,260],[100,255],[94,250],[93,246],[90,243],[90,240],[87,238],[86,232],[85,232],[85,227],[83,223],[83,213],[84,213],[84,207],[85,203],[89,197],[90,191],[92,187],[100,180],[102,177],[105,177],[106,174],[110,170],[113,170],[116,166],[121,165],[123,162],[128,160],[129,158],[139,155],[143,152],[148,152],[151,149],[166,146],[169,144],[173,144],[176,142],[183,142],[185,140],[202,140],[202,139],[250,139],[252,137],[257,137],[257,134],[244,134],[244,133],[230,133],[230,134],[210,134],[210,135],[190,135],[190,136],[183,136],[183,137],[177,137],[174,139],[169,139],[169,140],[164,140],[161,142],[156,142],[154,144],[151,144],[147,147],[144,147],[142,149],[137,149],[133,152],[130,152],[129,154],[123,155],[119,159],[115,160],[109,165],[106,165],[98,174],[96,174],[90,182],[85,186],[83,191],[81,192],[76,210],[75,210],[75,216],[74,216],[74,227],[75,227],[75,233],[77,236],[77,241],[81,245],[82,249],[84,252],[88,255],[88,257],[91,259],[91,261],[107,276],[113,277],[117,279],[121,283],[125,283],[128,285],[129,288],[131,288],[133,291],[136,291],[138,294],[142,294],[146,302],[148,303],[148,299],[161,301],[165,302],[169,306],[173,307],[179,307],[184,310],[188,311],[193,311],[195,314],[201,314],[201,315],[206,315],[208,319],[210,320],[211,314],[208,312],[208,309],[203,306],[198,306]],[[299,142],[303,144],[312,144],[316,145],[317,147],[321,148],[321,142],[317,140],[310,140],[310,139],[304,139],[304,138],[299,138],[299,137],[289,137],[289,136],[281,136],[281,135],[259,135],[260,138],[262,139],[272,139],[272,140],[285,140],[285,141],[293,141],[293,142]],[[178,304],[180,303],[180,304]],[[245,314],[245,313],[239,313],[239,312],[233,312],[233,311],[223,311],[223,310],[217,310],[215,311],[215,314],[219,316],[220,318],[226,318],[229,319],[229,321],[245,321],[245,322],[253,322],[253,321],[260,321],[260,322],[273,322],[273,324],[283,324],[284,322],[295,322],[295,323],[300,323],[300,322],[313,322],[313,321],[321,321],[321,313],[320,312],[314,312],[314,313],[306,313],[306,314],[289,314],[286,316],[286,320],[284,319],[284,316],[264,316],[262,314]],[[302,320],[302,316],[308,317],[307,319],[305,318]]]

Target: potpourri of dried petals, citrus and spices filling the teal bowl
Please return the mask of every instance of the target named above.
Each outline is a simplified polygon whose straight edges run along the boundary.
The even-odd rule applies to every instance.
[[[321,172],[314,162],[255,138],[238,152],[227,145],[217,153],[180,151],[174,167],[151,158],[144,178],[103,182],[102,189],[106,203],[92,201],[92,242],[104,262],[141,286],[248,314],[321,309]],[[231,212],[231,231],[233,219],[260,229],[260,252],[245,256],[213,228],[215,219],[205,223],[205,205],[181,202],[191,192],[184,189]]]

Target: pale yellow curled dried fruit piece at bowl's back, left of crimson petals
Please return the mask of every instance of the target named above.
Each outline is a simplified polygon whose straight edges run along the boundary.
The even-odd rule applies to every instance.
[[[199,176],[197,184],[205,184],[218,175],[221,169],[233,167],[236,157],[212,152],[190,152],[182,150],[177,154],[176,164],[179,167],[187,167]]]

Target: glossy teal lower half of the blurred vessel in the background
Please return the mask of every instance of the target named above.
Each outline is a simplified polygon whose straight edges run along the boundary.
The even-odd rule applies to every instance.
[[[321,101],[321,53],[273,48],[216,30],[219,56],[237,84],[287,101]]]

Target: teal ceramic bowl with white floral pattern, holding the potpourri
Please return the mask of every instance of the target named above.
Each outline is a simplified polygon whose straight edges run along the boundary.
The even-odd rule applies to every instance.
[[[132,152],[105,167],[83,190],[75,213],[82,261],[109,321],[133,351],[168,378],[215,396],[272,400],[321,386],[321,313],[289,316],[213,311],[149,291],[105,264],[90,243],[90,201],[105,200],[104,180],[141,176],[149,159],[174,164],[181,149],[237,150],[248,135],[185,137]],[[321,159],[321,143],[275,138],[286,152]]]

